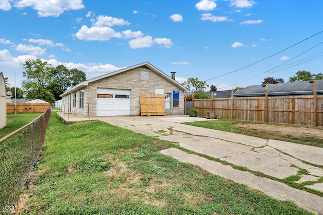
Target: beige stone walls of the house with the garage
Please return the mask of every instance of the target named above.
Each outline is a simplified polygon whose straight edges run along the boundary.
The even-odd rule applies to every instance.
[[[141,81],[141,71],[149,71],[149,81]],[[173,90],[180,91],[180,107],[173,109],[173,114],[184,114],[184,92],[178,86],[169,82],[165,78],[159,76],[154,71],[148,68],[134,68],[124,73],[117,74],[112,77],[100,79],[88,84],[84,88],[84,108],[79,108],[79,90],[76,94],[76,108],[73,108],[73,93],[72,93],[72,108],[71,112],[79,116],[90,117],[96,116],[96,89],[124,89],[131,90],[131,115],[140,114],[140,93],[155,93],[155,89],[164,89],[165,93],[173,93]],[[68,95],[69,96],[69,95]],[[63,98],[64,103],[64,98]],[[88,105],[88,106],[87,106]],[[89,109],[89,111],[88,111]]]

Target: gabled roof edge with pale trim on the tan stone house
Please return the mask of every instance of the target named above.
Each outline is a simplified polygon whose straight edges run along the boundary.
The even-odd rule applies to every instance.
[[[151,65],[148,62],[143,62],[143,63],[139,63],[139,64],[136,64],[136,65],[133,65],[133,66],[129,66],[129,67],[126,67],[126,68],[117,70],[117,71],[113,71],[112,73],[108,73],[108,74],[105,74],[105,75],[102,75],[102,76],[99,76],[99,77],[96,77],[96,78],[93,78],[93,79],[90,79],[90,80],[81,82],[80,84],[78,84],[78,85],[74,86],[73,88],[67,90],[65,93],[63,93],[62,95],[60,95],[60,97],[66,96],[70,92],[73,92],[73,91],[76,91],[78,89],[81,89],[81,88],[87,86],[91,82],[95,82],[95,81],[100,80],[100,79],[104,79],[104,78],[108,78],[108,77],[111,77],[111,76],[114,76],[114,75],[117,75],[117,74],[120,74],[120,73],[124,73],[125,71],[129,71],[131,69],[138,68],[138,67],[142,67],[142,66],[145,66],[145,67],[147,67],[147,68],[155,71],[155,73],[159,74],[161,77],[164,77],[169,82],[172,82],[174,85],[176,85],[180,89],[184,90],[184,92],[185,91],[189,92],[188,89],[186,89],[183,85],[181,85],[180,83],[178,83],[177,81],[175,81],[174,79],[172,79],[170,76],[168,76],[165,73],[163,73],[163,71],[157,69],[155,66]]]

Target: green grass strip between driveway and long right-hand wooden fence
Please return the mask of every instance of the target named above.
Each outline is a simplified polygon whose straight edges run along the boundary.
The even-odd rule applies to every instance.
[[[236,127],[235,124],[237,123],[250,123],[250,124],[274,124],[274,123],[263,123],[263,122],[251,122],[251,121],[240,121],[240,120],[231,120],[231,119],[218,119],[214,121],[197,121],[197,122],[186,122],[183,124],[198,126],[198,127],[204,127],[204,128],[210,128],[214,130],[222,130],[222,131],[229,131],[233,133],[240,133],[245,134],[249,136],[256,136],[260,138],[265,139],[278,139],[282,141],[290,141],[295,142],[297,144],[304,144],[309,146],[315,146],[315,147],[323,147],[323,138],[315,138],[315,137],[294,137],[292,135],[283,135],[279,132],[269,132],[265,130],[261,130],[259,132],[252,132],[250,129],[242,128],[242,127]],[[275,124],[277,125],[277,124]],[[303,126],[297,126],[297,125],[287,125],[284,124],[284,126],[290,126],[290,127],[303,127]],[[320,129],[323,132],[323,129],[321,128],[313,128],[312,129]]]

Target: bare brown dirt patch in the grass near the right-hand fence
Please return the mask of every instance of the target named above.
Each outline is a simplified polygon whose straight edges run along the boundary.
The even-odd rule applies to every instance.
[[[284,136],[298,137],[298,138],[306,138],[306,137],[315,137],[319,139],[323,138],[323,129],[316,129],[316,128],[291,127],[291,126],[285,126],[285,125],[268,125],[268,124],[254,124],[254,123],[237,123],[235,124],[235,126],[239,128],[246,128],[248,131],[254,134],[261,133],[261,135],[266,135],[266,136],[280,137],[284,135]]]

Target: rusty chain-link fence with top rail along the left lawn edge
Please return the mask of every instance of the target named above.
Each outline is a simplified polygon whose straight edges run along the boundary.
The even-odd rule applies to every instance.
[[[6,206],[16,204],[42,150],[49,117],[50,108],[0,139],[0,212]]]

